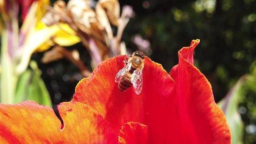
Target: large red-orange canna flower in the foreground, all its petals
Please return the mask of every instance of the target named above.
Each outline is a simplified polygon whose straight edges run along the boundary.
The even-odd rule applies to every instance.
[[[125,55],[101,62],[77,84],[73,100],[58,106],[62,124],[52,108],[34,101],[0,104],[0,142],[231,144],[211,85],[193,65],[198,44],[179,51],[169,74],[146,57],[139,95],[115,83]]]

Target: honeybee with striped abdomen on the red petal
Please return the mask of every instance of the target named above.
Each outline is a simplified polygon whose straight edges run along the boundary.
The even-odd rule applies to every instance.
[[[144,68],[145,55],[141,51],[135,51],[128,62],[126,59],[125,66],[116,74],[115,82],[118,83],[118,88],[120,91],[124,92],[132,85],[134,85],[134,90],[137,95],[141,93],[142,90],[142,71]]]

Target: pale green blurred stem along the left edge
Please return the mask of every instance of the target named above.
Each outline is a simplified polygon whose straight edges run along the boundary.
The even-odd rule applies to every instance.
[[[18,76],[15,74],[15,51],[18,48],[18,20],[5,22],[1,36],[0,103],[14,104]]]

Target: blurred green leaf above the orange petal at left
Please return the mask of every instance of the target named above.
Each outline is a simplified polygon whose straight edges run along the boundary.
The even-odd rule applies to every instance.
[[[26,70],[20,76],[15,93],[15,103],[34,100],[40,105],[51,107],[49,92],[41,78],[37,62],[31,61],[30,67],[32,70]]]

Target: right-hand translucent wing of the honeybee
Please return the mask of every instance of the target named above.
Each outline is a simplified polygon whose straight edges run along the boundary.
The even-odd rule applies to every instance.
[[[131,77],[131,83],[134,85],[134,90],[137,95],[140,94],[142,90],[142,70],[144,67],[141,67],[138,70],[135,70]]]

